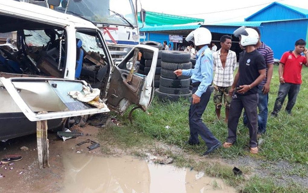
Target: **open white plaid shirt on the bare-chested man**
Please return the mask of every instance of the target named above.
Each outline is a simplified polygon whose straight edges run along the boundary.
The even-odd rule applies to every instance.
[[[236,54],[235,52],[229,50],[225,68],[222,67],[220,60],[220,50],[213,53],[213,71],[214,71],[214,80],[213,83],[217,86],[228,87],[233,84],[233,72],[236,69]]]

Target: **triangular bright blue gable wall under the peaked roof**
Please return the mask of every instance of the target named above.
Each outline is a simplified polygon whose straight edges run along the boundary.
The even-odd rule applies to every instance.
[[[304,15],[290,10],[284,6],[273,5],[252,17],[245,19],[245,21],[272,21],[272,20],[286,20],[286,19],[303,19]]]

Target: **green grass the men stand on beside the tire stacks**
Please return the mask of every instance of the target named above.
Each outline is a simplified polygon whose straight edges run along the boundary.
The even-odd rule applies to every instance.
[[[248,129],[242,124],[240,118],[238,125],[237,143],[229,149],[220,148],[213,152],[214,157],[223,159],[237,158],[238,156],[249,155],[253,159],[264,161],[261,164],[261,169],[268,169],[277,178],[281,177],[281,172],[289,175],[298,175],[300,177],[308,177],[308,103],[306,95],[308,94],[308,68],[303,67],[302,70],[302,87],[298,94],[297,102],[293,108],[292,115],[287,115],[283,110],[286,106],[287,99],[284,103],[282,112],[277,118],[269,116],[267,123],[267,132],[262,138],[265,143],[261,146],[258,155],[249,153],[249,133]],[[274,102],[277,97],[279,82],[278,82],[278,67],[274,67],[273,79],[271,82],[271,90],[269,94],[269,115],[273,110]],[[132,107],[131,107],[132,108]],[[206,150],[205,143],[200,139],[199,146],[185,145],[184,141],[188,140],[188,109],[189,102],[182,99],[178,102],[162,103],[155,97],[151,107],[147,112],[136,110],[133,112],[133,122],[128,121],[128,109],[123,117],[118,116],[121,127],[106,127],[100,131],[99,138],[101,141],[107,140],[111,145],[117,145],[121,148],[151,146],[153,150],[161,154],[168,154],[175,159],[175,164],[179,167],[192,167],[196,171],[205,171],[207,175],[219,177],[225,180],[229,185],[237,187],[241,192],[258,193],[258,192],[308,192],[307,188],[300,187],[298,184],[289,182],[285,186],[279,186],[275,179],[260,178],[254,176],[247,180],[243,177],[235,177],[232,168],[213,164],[210,162],[196,162],[193,159],[187,159],[183,155],[166,152],[155,146],[154,140],[159,140],[168,144],[174,144],[186,153],[202,155]],[[213,134],[224,142],[227,135],[227,125],[223,120],[218,121],[214,115],[215,107],[213,97],[203,114],[204,123],[210,128]],[[222,110],[222,115],[224,110]],[[222,116],[224,118],[224,116]],[[169,126],[170,128],[166,128]],[[145,155],[139,151],[133,151],[133,155],[144,157]],[[271,167],[271,163],[280,160],[285,160],[294,168],[286,171],[275,171]],[[259,168],[260,169],[260,168]],[[250,169],[243,167],[245,173],[249,173]]]

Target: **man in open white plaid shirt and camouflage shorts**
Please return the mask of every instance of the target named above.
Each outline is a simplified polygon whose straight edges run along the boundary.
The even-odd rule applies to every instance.
[[[231,97],[229,90],[233,84],[233,72],[236,69],[236,54],[230,50],[231,36],[223,35],[220,38],[221,49],[213,53],[214,62],[214,103],[216,115],[220,119],[222,98],[225,103],[225,123],[228,122]]]

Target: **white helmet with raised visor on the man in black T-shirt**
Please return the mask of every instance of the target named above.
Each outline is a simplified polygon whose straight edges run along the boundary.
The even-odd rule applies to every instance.
[[[241,36],[242,46],[256,45],[259,41],[258,32],[252,28],[246,28],[245,26],[241,26],[235,30],[233,35],[236,37]]]

